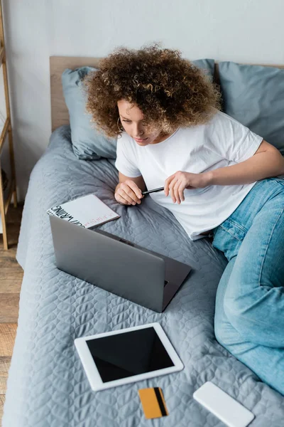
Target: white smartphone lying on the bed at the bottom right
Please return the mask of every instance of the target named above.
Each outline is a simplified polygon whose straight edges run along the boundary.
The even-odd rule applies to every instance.
[[[249,409],[210,381],[194,392],[193,399],[214,413],[226,426],[246,427],[253,421],[254,415]]]

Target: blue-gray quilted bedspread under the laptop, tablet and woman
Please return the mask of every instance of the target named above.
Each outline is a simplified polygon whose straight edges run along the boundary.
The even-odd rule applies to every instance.
[[[249,408],[256,416],[251,426],[284,426],[283,396],[214,337],[214,298],[226,265],[223,255],[207,239],[190,241],[174,216],[150,197],[141,206],[117,204],[117,178],[113,161],[87,162],[74,156],[69,127],[53,132],[33,169],[18,244],[24,276],[3,427],[221,427],[221,421],[192,399],[205,381]],[[192,274],[163,314],[55,267],[45,211],[92,192],[121,215],[104,224],[104,230],[192,265]],[[150,322],[160,322],[185,369],[94,393],[74,339]],[[151,386],[163,389],[169,416],[148,421],[138,389]]]

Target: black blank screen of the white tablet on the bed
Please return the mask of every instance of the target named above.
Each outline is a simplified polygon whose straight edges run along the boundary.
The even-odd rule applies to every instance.
[[[174,366],[153,327],[86,343],[104,383]]]

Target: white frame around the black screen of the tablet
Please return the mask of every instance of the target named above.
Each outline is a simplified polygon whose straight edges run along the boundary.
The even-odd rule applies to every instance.
[[[92,358],[92,354],[89,351],[87,346],[87,340],[97,339],[102,337],[109,337],[110,335],[121,334],[136,330],[146,329],[148,327],[153,327],[155,332],[158,334],[160,341],[162,342],[165,350],[168,352],[170,359],[174,364],[173,367],[158,369],[156,371],[146,372],[145,374],[138,374],[134,376],[128,376],[126,378],[116,379],[114,381],[103,382],[97,366]],[[181,371],[184,368],[180,357],[175,352],[173,344],[170,343],[167,335],[165,334],[163,328],[160,326],[160,323],[148,323],[148,325],[140,325],[134,327],[127,327],[122,330],[115,330],[111,332],[104,332],[102,334],[90,335],[89,337],[80,337],[75,339],[75,347],[80,356],[84,371],[87,374],[87,379],[93,391],[99,391],[104,389],[110,389],[111,387],[122,386],[124,384],[129,384],[131,382],[142,381],[143,379],[153,378],[154,376],[160,376],[165,374],[171,374],[172,372]]]

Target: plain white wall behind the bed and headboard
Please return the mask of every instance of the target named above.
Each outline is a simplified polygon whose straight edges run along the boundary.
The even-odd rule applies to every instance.
[[[18,194],[50,137],[49,56],[106,56],[151,41],[186,58],[284,64],[283,0],[7,0]]]

